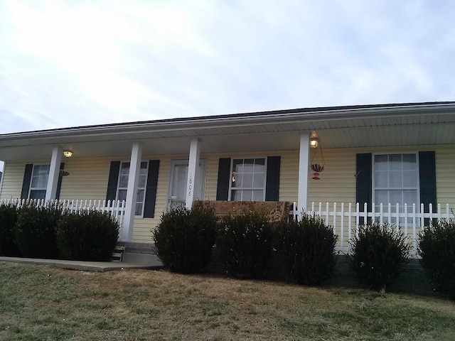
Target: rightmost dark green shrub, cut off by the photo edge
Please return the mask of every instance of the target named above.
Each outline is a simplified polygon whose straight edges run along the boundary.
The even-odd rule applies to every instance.
[[[419,233],[417,249],[434,290],[455,299],[455,222],[426,227]]]

